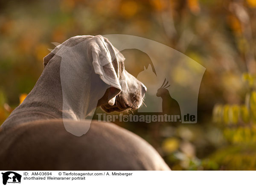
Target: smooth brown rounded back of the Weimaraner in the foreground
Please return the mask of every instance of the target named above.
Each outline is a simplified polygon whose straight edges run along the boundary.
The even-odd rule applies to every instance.
[[[2,128],[0,147],[5,170],[170,170],[144,139],[107,122],[93,121],[81,137],[68,133],[61,119]]]

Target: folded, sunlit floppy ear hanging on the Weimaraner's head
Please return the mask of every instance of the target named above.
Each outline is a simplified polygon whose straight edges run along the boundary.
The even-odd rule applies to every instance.
[[[116,96],[122,88],[119,83],[119,63],[116,49],[101,35],[90,39],[88,43],[88,57],[91,58],[93,69],[106,84],[110,85],[108,104],[114,105]]]

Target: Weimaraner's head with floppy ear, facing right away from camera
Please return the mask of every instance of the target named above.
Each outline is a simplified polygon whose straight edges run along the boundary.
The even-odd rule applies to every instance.
[[[145,85],[125,70],[124,56],[107,38],[101,35],[70,38],[44,58],[44,67],[55,54],[62,58],[69,58],[67,61],[72,64],[64,69],[69,74],[74,66],[76,68],[73,70],[73,74],[76,76],[77,74],[82,75],[83,70],[81,69],[84,67],[86,70],[92,69],[94,75],[91,75],[93,78],[91,79],[90,91],[94,88],[96,91],[93,92],[95,95],[92,96],[98,97],[100,95],[97,99],[97,106],[101,106],[106,112],[134,110],[142,104],[147,90]],[[72,60],[70,61],[70,59]],[[88,66],[83,60],[89,61]],[[81,66],[81,63],[86,65]],[[77,68],[78,66],[79,68]],[[73,78],[73,75],[70,77]],[[99,79],[99,81],[95,79]],[[73,81],[74,83],[76,80]],[[64,86],[62,81],[61,86]],[[68,85],[68,87],[70,86]],[[73,96],[71,93],[67,95]],[[89,107],[94,107],[94,104]]]

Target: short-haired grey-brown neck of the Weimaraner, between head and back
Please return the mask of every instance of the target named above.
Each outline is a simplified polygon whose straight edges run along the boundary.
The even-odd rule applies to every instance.
[[[72,80],[61,78],[65,70],[61,67],[61,58],[55,55],[45,67],[35,87],[3,123],[8,127],[20,123],[41,119],[84,119],[96,108],[103,96],[106,85],[95,74],[90,64],[79,69]],[[87,70],[87,72],[84,72]],[[67,77],[70,78],[70,77]],[[106,90],[106,89],[105,89]]]

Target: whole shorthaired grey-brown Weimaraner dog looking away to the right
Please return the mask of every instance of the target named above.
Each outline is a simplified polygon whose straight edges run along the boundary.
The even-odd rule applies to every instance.
[[[146,87],[124,70],[124,60],[101,35],[56,46],[35,87],[0,128],[0,169],[170,170],[144,139],[85,119],[98,106],[121,112],[142,104]]]

